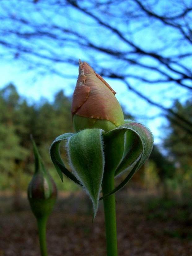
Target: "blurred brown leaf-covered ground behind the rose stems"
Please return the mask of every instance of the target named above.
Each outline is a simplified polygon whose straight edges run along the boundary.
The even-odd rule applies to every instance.
[[[147,192],[116,195],[119,256],[191,256],[192,208]],[[9,194],[0,195],[0,256],[39,256],[36,220],[26,199],[17,210]],[[59,193],[47,223],[49,256],[105,256],[102,203],[92,224],[84,192]]]

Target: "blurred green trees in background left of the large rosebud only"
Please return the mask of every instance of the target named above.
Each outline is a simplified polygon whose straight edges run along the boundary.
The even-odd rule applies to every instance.
[[[0,90],[0,171],[4,175],[0,189],[7,188],[7,178],[14,181],[11,186],[22,186],[18,180],[21,175],[33,173],[30,135],[46,166],[52,166],[50,144],[60,134],[73,131],[70,109],[71,101],[62,90],[55,95],[53,103],[43,99],[33,104],[28,104],[13,84]],[[24,188],[27,187],[28,183],[23,182]]]

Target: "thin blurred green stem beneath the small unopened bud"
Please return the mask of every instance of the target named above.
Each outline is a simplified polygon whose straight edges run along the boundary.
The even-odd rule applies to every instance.
[[[37,219],[41,256],[48,255],[47,245],[46,245],[46,224],[47,224],[47,217],[42,217]]]

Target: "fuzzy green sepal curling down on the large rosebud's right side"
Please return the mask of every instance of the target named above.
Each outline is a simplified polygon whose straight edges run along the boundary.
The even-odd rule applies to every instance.
[[[130,164],[133,166],[133,168],[130,170],[123,182],[121,182],[110,193],[102,196],[100,200],[120,190],[132,178],[133,174],[144,164],[144,162],[150,156],[153,148],[153,135],[148,128],[142,126],[141,124],[128,121],[124,125],[113,129],[110,131],[110,133],[115,133],[116,131],[119,131],[119,133],[122,131],[126,132],[127,138],[125,140],[122,161],[117,167],[115,173],[118,175],[121,172],[129,170]]]

